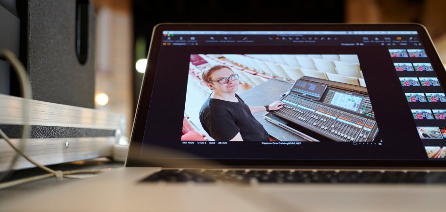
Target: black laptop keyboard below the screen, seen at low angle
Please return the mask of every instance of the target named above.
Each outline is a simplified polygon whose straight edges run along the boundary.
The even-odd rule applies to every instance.
[[[143,182],[446,183],[446,172],[163,169]]]

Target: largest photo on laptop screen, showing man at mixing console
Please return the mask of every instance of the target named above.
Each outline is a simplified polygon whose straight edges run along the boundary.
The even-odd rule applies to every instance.
[[[365,122],[375,116],[373,102],[364,94],[365,82],[357,55],[193,54],[181,140],[374,141],[378,126],[375,121],[372,126]],[[330,86],[338,90],[331,90]],[[327,96],[331,96],[334,108],[349,112],[329,114],[318,110]],[[292,101],[311,102],[315,108],[298,109]],[[360,108],[363,102],[367,107]],[[289,111],[299,111],[300,116],[279,116]],[[360,123],[336,121],[343,113],[365,118]],[[269,114],[294,122],[293,129],[267,120]],[[344,130],[350,126],[358,129]],[[311,137],[296,133],[308,132],[308,128],[317,133]],[[287,137],[283,131],[289,132]]]

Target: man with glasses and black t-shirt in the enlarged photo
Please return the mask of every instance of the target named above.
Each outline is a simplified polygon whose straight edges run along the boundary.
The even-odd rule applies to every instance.
[[[278,110],[284,103],[247,106],[236,94],[239,76],[224,65],[209,67],[202,78],[213,91],[200,110],[201,125],[209,136],[222,141],[269,141],[268,132],[253,113]]]

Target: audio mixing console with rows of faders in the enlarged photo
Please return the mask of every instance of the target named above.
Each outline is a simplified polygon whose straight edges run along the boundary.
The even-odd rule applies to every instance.
[[[330,87],[319,93],[306,91],[307,95],[293,91],[281,99],[284,107],[271,111],[272,114],[320,135],[316,138],[320,141],[374,140],[378,127],[368,96]],[[308,98],[309,95],[319,98]]]

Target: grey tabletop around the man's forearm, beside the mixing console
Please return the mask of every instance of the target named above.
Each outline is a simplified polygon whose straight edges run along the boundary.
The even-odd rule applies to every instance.
[[[265,106],[279,100],[293,84],[278,79],[270,79],[254,88],[240,93],[239,96],[248,106]],[[301,136],[293,134],[263,118],[263,112],[255,113],[254,118],[259,121],[270,136],[280,141],[306,141]]]

